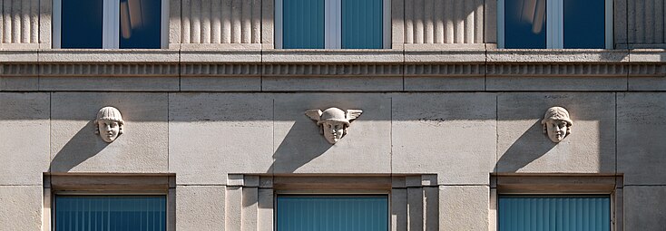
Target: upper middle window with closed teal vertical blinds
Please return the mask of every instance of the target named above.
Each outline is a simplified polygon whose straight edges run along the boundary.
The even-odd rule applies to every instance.
[[[390,46],[388,0],[276,0],[276,48]]]

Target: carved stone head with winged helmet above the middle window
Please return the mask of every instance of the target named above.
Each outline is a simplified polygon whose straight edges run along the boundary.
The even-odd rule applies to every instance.
[[[338,140],[342,139],[347,134],[347,128],[352,120],[356,120],[361,116],[363,111],[348,110],[342,111],[338,108],[329,108],[324,111],[308,110],[305,114],[310,119],[317,121],[317,125],[321,127],[319,130],[329,143],[335,144]]]

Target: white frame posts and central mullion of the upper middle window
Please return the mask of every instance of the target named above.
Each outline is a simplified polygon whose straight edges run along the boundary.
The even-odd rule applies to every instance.
[[[382,47],[391,48],[391,0],[382,3]],[[324,49],[342,49],[342,0],[324,0]],[[275,48],[282,49],[282,0],[275,0]]]

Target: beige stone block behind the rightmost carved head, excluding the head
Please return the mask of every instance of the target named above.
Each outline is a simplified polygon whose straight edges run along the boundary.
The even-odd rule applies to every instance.
[[[571,114],[571,134],[553,143],[544,112]],[[497,172],[615,172],[614,93],[500,93],[497,95]]]

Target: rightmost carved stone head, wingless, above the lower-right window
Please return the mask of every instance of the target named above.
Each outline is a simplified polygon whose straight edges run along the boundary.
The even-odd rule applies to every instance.
[[[552,107],[545,111],[541,124],[544,126],[544,133],[548,135],[548,138],[559,143],[571,134],[573,120],[569,118],[569,111],[563,107]]]

